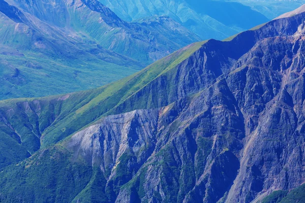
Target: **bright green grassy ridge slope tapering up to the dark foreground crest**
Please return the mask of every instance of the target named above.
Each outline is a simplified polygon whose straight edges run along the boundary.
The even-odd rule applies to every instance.
[[[2,155],[3,164],[22,160],[40,147],[54,144],[101,116],[114,113],[115,107],[187,59],[203,43],[189,45],[149,65],[139,73],[97,89],[62,96],[0,101],[3,133],[1,151],[5,152]],[[140,99],[137,102],[138,104],[133,104],[135,107],[142,105]],[[123,111],[129,110],[132,109],[126,108]],[[18,150],[22,155],[14,157]]]

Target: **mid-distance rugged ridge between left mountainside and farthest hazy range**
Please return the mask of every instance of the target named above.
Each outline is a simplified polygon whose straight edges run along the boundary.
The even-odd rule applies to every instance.
[[[68,30],[72,29],[76,34],[82,34],[106,49],[145,63],[158,58],[149,55],[166,55],[170,51],[177,49],[177,47],[186,46],[190,42],[199,39],[177,23],[173,24],[172,27],[163,25],[164,29],[177,29],[177,33],[165,36],[157,29],[152,30],[151,27],[146,28],[139,23],[125,22],[118,18],[110,9],[94,0],[83,0],[83,2],[80,0],[78,2],[62,0],[55,3],[52,1],[24,2],[18,0],[8,0],[8,2],[41,19],[43,22]],[[50,16],[47,11],[53,11],[54,14]],[[172,29],[171,31],[173,32]],[[176,38],[174,37],[175,35],[177,35]],[[169,40],[168,37],[179,39],[178,42],[180,44]]]

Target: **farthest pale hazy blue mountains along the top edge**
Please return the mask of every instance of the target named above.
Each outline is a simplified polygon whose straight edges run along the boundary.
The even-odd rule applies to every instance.
[[[250,29],[268,19],[236,2],[210,0],[99,0],[120,18],[138,21],[149,16],[169,16],[201,39],[222,40],[240,31]]]

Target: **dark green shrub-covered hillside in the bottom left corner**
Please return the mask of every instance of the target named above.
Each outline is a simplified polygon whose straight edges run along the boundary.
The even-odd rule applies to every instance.
[[[82,161],[71,162],[69,154],[54,148],[45,150],[43,156],[36,154],[28,162],[19,163],[15,167],[18,168],[18,175],[7,174],[2,180],[14,178],[22,184],[18,189],[13,182],[7,185],[10,191],[7,194],[1,193],[1,201],[19,202],[19,199],[23,199],[25,202],[70,202],[94,175],[91,167]],[[16,190],[19,192],[16,193]],[[50,191],[53,191],[52,194]],[[14,198],[5,198],[13,193],[16,194]]]

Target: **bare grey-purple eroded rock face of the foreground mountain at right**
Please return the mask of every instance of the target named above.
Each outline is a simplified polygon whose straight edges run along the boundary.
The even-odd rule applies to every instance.
[[[189,69],[177,71],[190,76],[186,84],[176,75],[181,86],[172,99],[178,100],[155,110],[108,116],[76,133],[66,147],[74,158],[100,166],[106,188],[125,184],[113,193],[116,202],[250,202],[300,185],[304,25],[288,30],[277,23],[270,25],[275,37],[262,31],[265,37],[256,36],[245,53],[241,48],[225,54],[226,44],[219,52],[203,46],[184,65]],[[188,97],[189,90],[199,92]],[[120,176],[123,163],[128,175]]]

